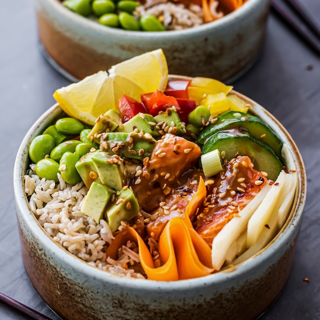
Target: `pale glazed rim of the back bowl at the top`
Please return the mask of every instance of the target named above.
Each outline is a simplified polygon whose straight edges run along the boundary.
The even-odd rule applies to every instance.
[[[38,0],[43,1],[43,0]],[[208,29],[222,29],[228,24],[232,24],[235,20],[238,18],[241,18],[243,16],[249,15],[251,12],[256,10],[256,7],[262,3],[263,1],[268,3],[269,0],[249,0],[246,3],[244,3],[239,9],[225,15],[221,19],[217,19],[212,22],[205,23],[200,26],[195,26],[192,28],[187,28],[183,30],[169,30],[169,31],[163,31],[163,32],[143,32],[143,31],[130,31],[130,30],[123,30],[123,29],[116,29],[116,28],[109,28],[100,25],[98,22],[93,21],[92,19],[89,19],[87,17],[81,16],[75,12],[72,12],[71,10],[65,8],[60,2],[57,0],[46,0],[47,3],[50,3],[55,10],[61,14],[62,16],[67,17],[72,22],[75,22],[76,24],[86,24],[87,27],[92,28],[94,30],[97,30],[101,33],[107,33],[107,34],[115,34],[118,36],[138,36],[142,38],[149,38],[156,37],[156,38],[171,38],[172,35],[176,36],[184,36],[187,34],[197,34],[202,33],[205,31],[208,31]]]

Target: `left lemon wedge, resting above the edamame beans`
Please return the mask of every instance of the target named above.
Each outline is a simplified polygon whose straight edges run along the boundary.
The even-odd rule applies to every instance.
[[[53,97],[68,116],[94,125],[96,119],[108,109],[115,109],[113,80],[105,71],[62,87]]]

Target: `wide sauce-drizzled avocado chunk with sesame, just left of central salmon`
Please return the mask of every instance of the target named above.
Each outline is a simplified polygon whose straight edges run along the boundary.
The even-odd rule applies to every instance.
[[[108,132],[101,136],[100,149],[129,159],[150,157],[156,141],[151,134],[138,132]]]

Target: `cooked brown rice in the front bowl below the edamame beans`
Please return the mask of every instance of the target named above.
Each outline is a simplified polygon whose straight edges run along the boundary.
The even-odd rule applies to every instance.
[[[129,247],[122,247],[122,254],[117,261],[106,258],[106,245],[114,237],[105,220],[100,220],[97,224],[93,218],[81,212],[80,208],[87,194],[83,182],[75,186],[67,185],[60,174],[58,183],[40,179],[35,174],[35,165],[30,168],[25,175],[25,191],[30,196],[30,208],[55,242],[102,270],[126,277],[144,278],[141,273],[126,267],[127,264],[139,263],[139,255]]]

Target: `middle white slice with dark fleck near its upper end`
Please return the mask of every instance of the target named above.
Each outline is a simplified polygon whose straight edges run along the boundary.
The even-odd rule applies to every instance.
[[[285,186],[286,173],[281,171],[275,183],[248,222],[247,247],[253,246],[267,224]],[[278,212],[278,211],[277,211]]]

